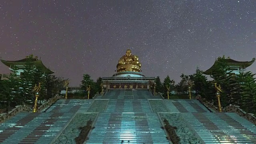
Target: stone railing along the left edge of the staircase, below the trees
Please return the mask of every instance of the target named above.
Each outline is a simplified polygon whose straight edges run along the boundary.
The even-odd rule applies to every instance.
[[[59,95],[56,95],[53,98],[50,98],[48,100],[48,102],[42,104],[41,106],[38,107],[38,112],[40,112],[41,110],[43,110],[44,108],[46,108],[47,106],[52,105],[54,102],[56,102],[56,100],[60,99],[61,97]],[[16,116],[16,114],[18,114],[19,112],[31,112],[32,111],[32,107],[31,106],[27,106],[27,105],[20,105],[20,106],[15,106],[16,108],[12,109],[10,112],[8,112],[7,114],[1,114],[0,115],[0,123],[4,122],[5,120],[8,120],[10,118],[12,118],[13,116]]]

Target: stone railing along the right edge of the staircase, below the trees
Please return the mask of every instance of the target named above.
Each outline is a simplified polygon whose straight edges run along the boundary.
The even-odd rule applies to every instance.
[[[196,98],[194,98],[194,99],[199,100],[208,108],[211,108],[215,112],[218,112],[218,108],[216,106],[214,106],[214,104],[208,102],[205,98],[202,98],[200,95],[196,96]],[[244,112],[244,110],[239,108],[239,106],[230,104],[230,105],[226,106],[225,108],[222,108],[222,110],[223,110],[223,112],[235,112],[239,116],[244,117],[246,120],[248,120],[248,121],[252,122],[254,125],[256,125],[256,117],[253,116],[254,114]]]

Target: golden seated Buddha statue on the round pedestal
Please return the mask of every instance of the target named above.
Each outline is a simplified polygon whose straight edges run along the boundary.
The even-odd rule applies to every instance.
[[[131,50],[126,50],[126,54],[122,56],[118,64],[116,65],[117,72],[140,72],[141,64],[139,62],[138,56],[132,55]]]

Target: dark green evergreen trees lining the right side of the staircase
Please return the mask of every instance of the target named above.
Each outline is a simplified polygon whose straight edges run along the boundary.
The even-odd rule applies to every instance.
[[[208,80],[200,68],[196,68],[196,72],[191,75],[181,74],[181,80],[175,85],[174,80],[170,80],[167,76],[162,83],[159,76],[156,77],[156,92],[161,92],[166,97],[166,86],[178,93],[186,93],[188,91],[188,83],[192,82],[191,90],[195,95],[218,105],[216,98],[216,90],[214,83],[220,84],[223,92],[221,92],[221,104],[223,107],[232,104],[240,106],[244,111],[256,114],[256,78],[252,72],[240,72],[234,75],[230,70],[230,66],[225,60],[225,56],[216,59],[216,65],[212,69]]]

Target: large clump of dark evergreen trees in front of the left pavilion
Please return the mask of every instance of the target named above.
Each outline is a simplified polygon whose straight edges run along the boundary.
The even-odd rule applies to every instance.
[[[52,74],[44,74],[42,68],[32,63],[33,55],[29,55],[24,62],[24,72],[17,75],[19,68],[12,66],[8,80],[0,80],[0,108],[13,108],[17,105],[33,104],[35,84],[41,83],[38,100],[48,100],[60,93],[64,85],[64,78]]]

